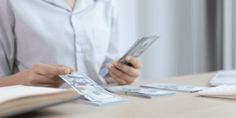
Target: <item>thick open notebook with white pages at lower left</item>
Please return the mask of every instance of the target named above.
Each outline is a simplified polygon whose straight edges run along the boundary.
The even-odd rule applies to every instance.
[[[17,85],[0,87],[0,96],[2,118],[76,100],[79,94],[72,89]]]

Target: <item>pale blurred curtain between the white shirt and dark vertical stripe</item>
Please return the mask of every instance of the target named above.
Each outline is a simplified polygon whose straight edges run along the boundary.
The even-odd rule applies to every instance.
[[[118,1],[124,51],[138,37],[161,37],[142,55],[143,79],[209,70],[205,0]]]

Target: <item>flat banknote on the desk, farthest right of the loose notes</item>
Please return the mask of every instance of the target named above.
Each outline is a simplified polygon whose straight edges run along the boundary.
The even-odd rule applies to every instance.
[[[186,84],[172,84],[172,83],[145,84],[145,85],[141,85],[141,87],[171,90],[171,91],[178,91],[178,92],[188,92],[188,93],[195,93],[205,88],[205,87],[200,87],[200,86],[192,86],[192,85],[186,85]]]

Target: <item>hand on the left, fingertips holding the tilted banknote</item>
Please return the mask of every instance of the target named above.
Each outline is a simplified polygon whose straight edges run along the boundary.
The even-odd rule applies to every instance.
[[[35,64],[31,70],[26,71],[26,78],[21,78],[23,85],[60,87],[64,81],[58,75],[70,74],[72,68],[63,65]]]

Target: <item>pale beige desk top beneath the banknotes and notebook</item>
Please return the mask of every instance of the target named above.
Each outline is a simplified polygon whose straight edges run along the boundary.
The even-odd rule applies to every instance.
[[[174,82],[206,86],[212,75],[191,75],[141,83]],[[153,99],[127,98],[128,103],[103,107],[67,103],[44,109],[31,118],[236,118],[236,100],[205,98],[190,93]]]

